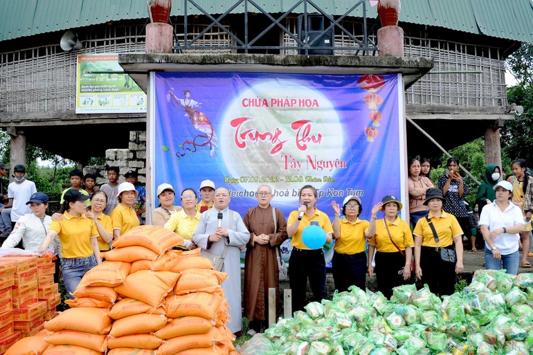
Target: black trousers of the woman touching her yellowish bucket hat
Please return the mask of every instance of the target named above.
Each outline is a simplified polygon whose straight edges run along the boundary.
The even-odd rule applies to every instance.
[[[409,280],[404,280],[403,273],[406,258],[399,251],[394,253],[380,253],[378,251],[375,261],[377,291],[383,293],[390,300],[393,288],[409,283]]]

